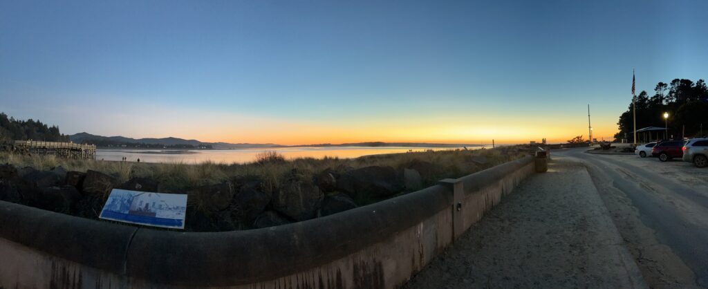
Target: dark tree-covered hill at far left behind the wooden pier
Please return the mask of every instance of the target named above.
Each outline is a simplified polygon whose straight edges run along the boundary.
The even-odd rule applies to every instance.
[[[0,141],[44,140],[47,142],[68,142],[69,136],[62,135],[56,125],[48,126],[39,120],[16,120],[0,113]]]

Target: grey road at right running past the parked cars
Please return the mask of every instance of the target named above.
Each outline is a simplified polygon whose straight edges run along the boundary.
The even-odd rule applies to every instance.
[[[708,288],[708,169],[583,149],[553,152],[583,162],[653,288]]]

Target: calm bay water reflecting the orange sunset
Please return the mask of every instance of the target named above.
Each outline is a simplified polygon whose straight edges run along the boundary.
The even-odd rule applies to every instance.
[[[481,147],[472,147],[479,149]],[[455,149],[449,147],[286,147],[278,149],[207,149],[207,150],[185,150],[180,152],[169,150],[140,150],[140,149],[98,149],[96,159],[106,161],[120,161],[122,157],[127,157],[128,161],[154,163],[183,162],[195,164],[212,161],[219,163],[244,163],[252,162],[256,159],[256,154],[264,151],[275,151],[285,156],[286,159],[297,157],[314,157],[321,159],[324,157],[353,158],[369,154],[392,154],[401,152],[423,152],[426,149],[445,150]],[[469,147],[468,147],[469,149]]]

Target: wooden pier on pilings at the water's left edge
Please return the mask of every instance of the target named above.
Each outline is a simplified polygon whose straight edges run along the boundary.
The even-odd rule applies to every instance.
[[[16,140],[13,150],[30,154],[54,154],[68,159],[96,159],[96,145],[81,145],[73,142]]]

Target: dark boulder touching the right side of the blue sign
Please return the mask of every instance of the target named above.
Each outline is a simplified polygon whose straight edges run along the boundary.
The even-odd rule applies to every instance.
[[[230,181],[215,185],[200,186],[188,191],[188,200],[199,210],[218,211],[231,205],[234,199],[234,186]]]

